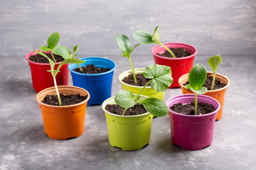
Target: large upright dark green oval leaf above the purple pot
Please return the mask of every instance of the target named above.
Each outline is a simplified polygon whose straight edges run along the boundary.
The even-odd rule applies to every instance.
[[[207,73],[203,64],[196,64],[188,74],[188,83],[194,90],[198,90],[206,81]]]

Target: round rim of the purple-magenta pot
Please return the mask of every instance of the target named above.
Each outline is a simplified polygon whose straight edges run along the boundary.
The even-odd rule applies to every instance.
[[[174,101],[174,100],[176,100],[178,98],[181,98],[181,97],[191,97],[191,96],[195,96],[195,94],[181,94],[181,95],[169,98],[166,101],[166,105],[169,108],[169,115],[174,114],[174,115],[178,115],[178,116],[186,117],[186,118],[203,118],[203,117],[207,117],[207,116],[210,116],[210,115],[217,114],[217,112],[220,110],[220,103],[215,98],[212,98],[212,97],[206,96],[206,95],[202,95],[202,94],[198,94],[198,98],[209,98],[211,101],[215,101],[215,103],[218,103],[218,108],[216,108],[215,111],[213,111],[211,113],[208,113],[208,114],[205,114],[205,115],[183,115],[181,113],[177,113],[175,111],[171,111],[171,109],[170,109],[170,102],[171,101]]]

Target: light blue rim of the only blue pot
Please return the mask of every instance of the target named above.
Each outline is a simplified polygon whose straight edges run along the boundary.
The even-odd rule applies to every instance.
[[[83,61],[86,61],[86,60],[92,60],[92,59],[95,59],[95,60],[107,60],[109,62],[112,62],[114,64],[114,67],[112,69],[110,69],[109,71],[107,72],[102,72],[102,73],[97,73],[97,74],[85,74],[85,73],[79,73],[79,72],[75,72],[73,71],[73,69],[70,69],[71,66],[73,66],[73,64],[68,64],[68,69],[70,70],[70,72],[72,72],[73,74],[78,74],[80,76],[92,76],[92,77],[96,77],[96,76],[103,76],[105,74],[110,74],[111,72],[114,72],[114,69],[116,69],[117,67],[117,64],[110,60],[110,59],[107,59],[107,58],[104,58],[104,57],[83,57],[83,58],[80,58],[80,60],[83,60]]]

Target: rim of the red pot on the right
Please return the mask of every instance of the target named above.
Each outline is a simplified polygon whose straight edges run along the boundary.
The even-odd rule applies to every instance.
[[[155,45],[154,47],[151,48],[151,53],[152,55],[155,55],[156,57],[159,57],[161,59],[164,59],[164,60],[186,60],[188,58],[192,58],[192,57],[195,57],[195,55],[198,53],[198,50],[196,49],[196,47],[194,47],[193,45],[189,45],[189,44],[186,44],[186,43],[181,43],[181,42],[166,42],[164,43],[164,45],[186,45],[187,47],[192,47],[195,52],[192,54],[192,55],[189,55],[187,57],[179,57],[179,58],[169,58],[169,57],[162,57],[160,55],[156,55],[156,53],[154,53],[153,51],[158,48],[158,47],[162,47],[161,45]],[[162,47],[164,48],[164,47]]]

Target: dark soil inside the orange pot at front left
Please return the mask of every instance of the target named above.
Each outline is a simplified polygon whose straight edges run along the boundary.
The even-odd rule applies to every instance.
[[[80,94],[63,95],[60,94],[61,106],[68,106],[85,101],[88,96],[80,96]],[[43,103],[53,106],[59,106],[58,97],[56,95],[47,95],[43,98]]]

